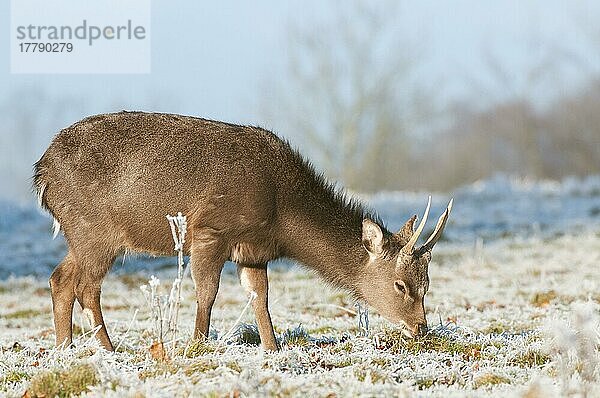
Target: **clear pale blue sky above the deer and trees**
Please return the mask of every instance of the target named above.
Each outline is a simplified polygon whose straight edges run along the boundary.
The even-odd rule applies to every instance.
[[[10,101],[11,93],[40,88],[49,101],[70,96],[81,100],[80,116],[121,108],[158,108],[266,124],[278,130],[277,125],[261,119],[259,108],[272,96],[266,89],[273,86],[270,83],[286,78],[285,60],[293,45],[288,27],[310,29],[316,20],[327,20],[345,4],[316,0],[153,1],[151,74],[11,75],[9,2],[4,1],[0,3],[5,26],[5,34],[0,36],[0,104]],[[507,95],[506,87],[489,78],[489,68],[482,60],[486,48],[511,74],[511,90],[540,102],[581,84],[582,71],[600,70],[598,1],[411,1],[398,8],[394,21],[421,53],[419,78],[444,82],[437,94],[444,101],[473,94],[477,85],[488,95],[482,101]],[[567,55],[559,55],[563,52]],[[566,57],[573,66],[563,70],[560,79],[550,75],[547,84],[532,89],[523,73],[547,54]],[[3,109],[0,112],[5,112]],[[43,110],[41,115],[44,117]],[[9,116],[0,114],[0,120]],[[50,131],[35,132],[35,148],[22,162],[6,161],[11,151],[8,145],[0,149],[0,157],[5,157],[4,162],[0,159],[4,169],[4,173],[0,170],[4,187],[0,197],[22,197],[22,184],[7,180],[7,176],[28,173],[31,161],[54,134],[52,129],[74,121],[58,119],[53,122],[56,126],[49,126]],[[15,134],[0,127],[5,144],[18,145]]]

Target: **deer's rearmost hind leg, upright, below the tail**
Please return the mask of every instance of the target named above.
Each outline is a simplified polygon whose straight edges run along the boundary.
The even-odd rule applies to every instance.
[[[75,256],[69,251],[50,276],[57,346],[68,347],[73,339],[73,303],[75,302],[75,278],[78,272]]]

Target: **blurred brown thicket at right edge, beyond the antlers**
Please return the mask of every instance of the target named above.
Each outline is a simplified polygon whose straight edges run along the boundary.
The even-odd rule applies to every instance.
[[[453,108],[456,121],[432,148],[437,172],[427,181],[449,189],[498,172],[554,179],[599,173],[599,88],[590,82],[537,110],[527,100]]]

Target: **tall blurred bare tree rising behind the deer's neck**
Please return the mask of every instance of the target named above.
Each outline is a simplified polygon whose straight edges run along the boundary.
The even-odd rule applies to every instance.
[[[289,76],[267,118],[350,188],[401,188],[409,132],[431,108],[416,85],[415,51],[398,29],[397,5],[336,4],[333,18],[292,31]]]

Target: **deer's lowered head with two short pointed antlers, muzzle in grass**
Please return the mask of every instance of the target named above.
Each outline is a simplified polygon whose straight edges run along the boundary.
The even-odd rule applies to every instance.
[[[416,230],[416,215],[394,234],[384,232],[369,219],[363,221],[362,241],[369,260],[359,285],[360,294],[389,321],[403,325],[408,337],[427,331],[424,297],[429,289],[428,265],[431,250],[448,221],[452,202],[450,200],[435,230],[420,247],[415,245],[425,228],[431,197]]]

